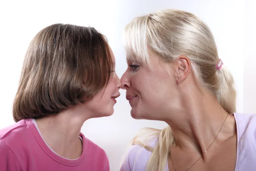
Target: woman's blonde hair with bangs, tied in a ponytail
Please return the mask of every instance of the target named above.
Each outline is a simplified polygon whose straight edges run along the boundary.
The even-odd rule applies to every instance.
[[[216,96],[227,113],[236,112],[233,76],[224,66],[216,70],[219,58],[213,35],[208,26],[194,14],[167,9],[137,17],[126,26],[124,35],[127,58],[147,66],[150,66],[148,48],[165,63],[186,55],[199,83]],[[147,131],[151,130],[147,128]],[[169,126],[154,132],[159,140],[154,149],[150,150],[152,154],[146,171],[164,171],[175,138]],[[140,135],[139,132],[131,144],[148,146],[140,141]]]

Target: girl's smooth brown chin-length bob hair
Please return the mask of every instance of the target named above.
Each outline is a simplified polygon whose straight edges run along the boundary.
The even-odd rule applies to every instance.
[[[110,81],[107,39],[93,27],[53,24],[31,41],[13,104],[15,122],[93,99]]]

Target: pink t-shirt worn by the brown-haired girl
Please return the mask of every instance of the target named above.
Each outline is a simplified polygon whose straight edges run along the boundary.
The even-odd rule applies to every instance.
[[[109,171],[108,157],[80,133],[83,151],[78,159],[55,154],[44,142],[32,119],[0,130],[1,171]]]

